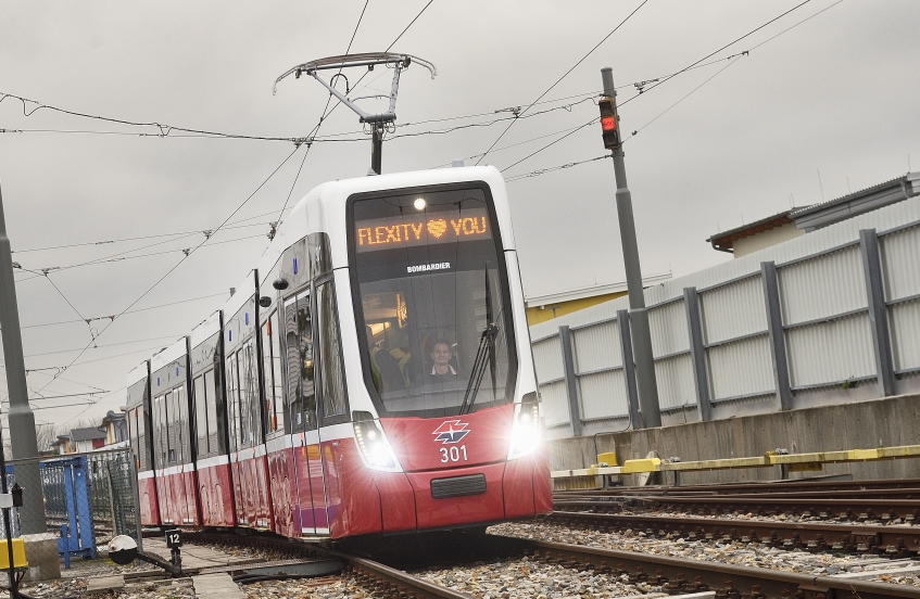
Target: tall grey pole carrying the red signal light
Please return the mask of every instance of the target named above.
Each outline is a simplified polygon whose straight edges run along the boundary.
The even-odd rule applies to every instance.
[[[616,112],[617,92],[614,88],[613,69],[602,68],[601,78],[604,81],[604,94],[614,99],[614,112]],[[619,128],[619,122],[617,128]],[[661,409],[658,405],[658,383],[655,380],[655,359],[652,355],[652,332],[648,327],[648,313],[645,310],[645,295],[642,291],[642,270],[639,267],[639,244],[635,240],[635,221],[632,216],[632,195],[626,182],[622,146],[614,150],[613,157],[614,174],[617,179],[617,217],[620,224],[626,283],[629,290],[639,404],[642,406],[644,425],[660,426]]]

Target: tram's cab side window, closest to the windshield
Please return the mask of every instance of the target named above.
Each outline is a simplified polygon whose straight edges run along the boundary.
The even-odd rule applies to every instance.
[[[323,387],[323,417],[336,418],[348,413],[348,402],[332,281],[326,281],[316,288],[316,304],[319,310],[317,330],[320,347],[319,368],[323,372],[319,378]]]

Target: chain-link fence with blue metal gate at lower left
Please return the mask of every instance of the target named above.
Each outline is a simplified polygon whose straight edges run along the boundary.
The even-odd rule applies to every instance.
[[[11,510],[13,538],[22,538],[25,581],[108,574],[104,546],[115,535],[141,544],[137,471],[130,449],[11,460],[10,487],[23,487]],[[0,538],[5,538],[0,525]],[[0,584],[8,582],[0,574]]]

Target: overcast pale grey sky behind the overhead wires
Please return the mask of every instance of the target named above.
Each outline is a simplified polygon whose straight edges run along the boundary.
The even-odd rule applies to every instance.
[[[477,126],[391,139],[383,170],[482,154],[509,123],[492,123],[511,116],[495,111],[527,107],[641,5],[482,161],[512,179],[525,291],[623,279],[609,161],[514,179],[604,154],[592,124],[515,164],[597,116],[603,66],[625,86],[623,130],[640,131],[626,143],[626,162],[643,273],[680,276],[731,259],[705,239],[898,177],[908,154],[920,169],[916,1],[811,0],[709,59],[718,62],[630,100],[634,82],[680,72],[799,1],[433,0],[393,46],[438,67],[433,80],[418,66],[403,74],[396,135]],[[387,49],[426,3],[371,0],[351,51]],[[286,79],[273,97],[272,84],[295,64],[343,53],[364,8],[364,0],[2,1],[0,92],[126,122],[304,137],[328,93],[304,77]],[[352,85],[362,74],[346,72]],[[370,73],[360,94],[386,93],[390,75]],[[286,203],[369,166],[368,137],[343,106],[317,136],[353,141],[317,141],[305,161],[301,148],[270,178],[291,142],[161,137],[166,129],[49,109],[26,117],[24,107],[38,104],[0,102],[8,131],[0,133],[0,181],[13,259],[39,272],[16,275],[28,386],[48,397],[33,403],[38,422],[117,410],[127,371],[222,307],[256,265],[268,222]],[[455,118],[468,115],[479,116]],[[430,122],[448,118],[455,119]],[[201,243],[201,231],[266,179],[232,217],[238,226],[184,260],[182,248]],[[150,238],[163,234],[171,237]],[[97,243],[126,238],[136,239]],[[84,245],[37,251],[72,244]],[[114,322],[99,319],[128,306]],[[142,308],[152,309],[134,311]],[[93,336],[98,347],[81,353]],[[53,398],[60,395],[71,397]]]

